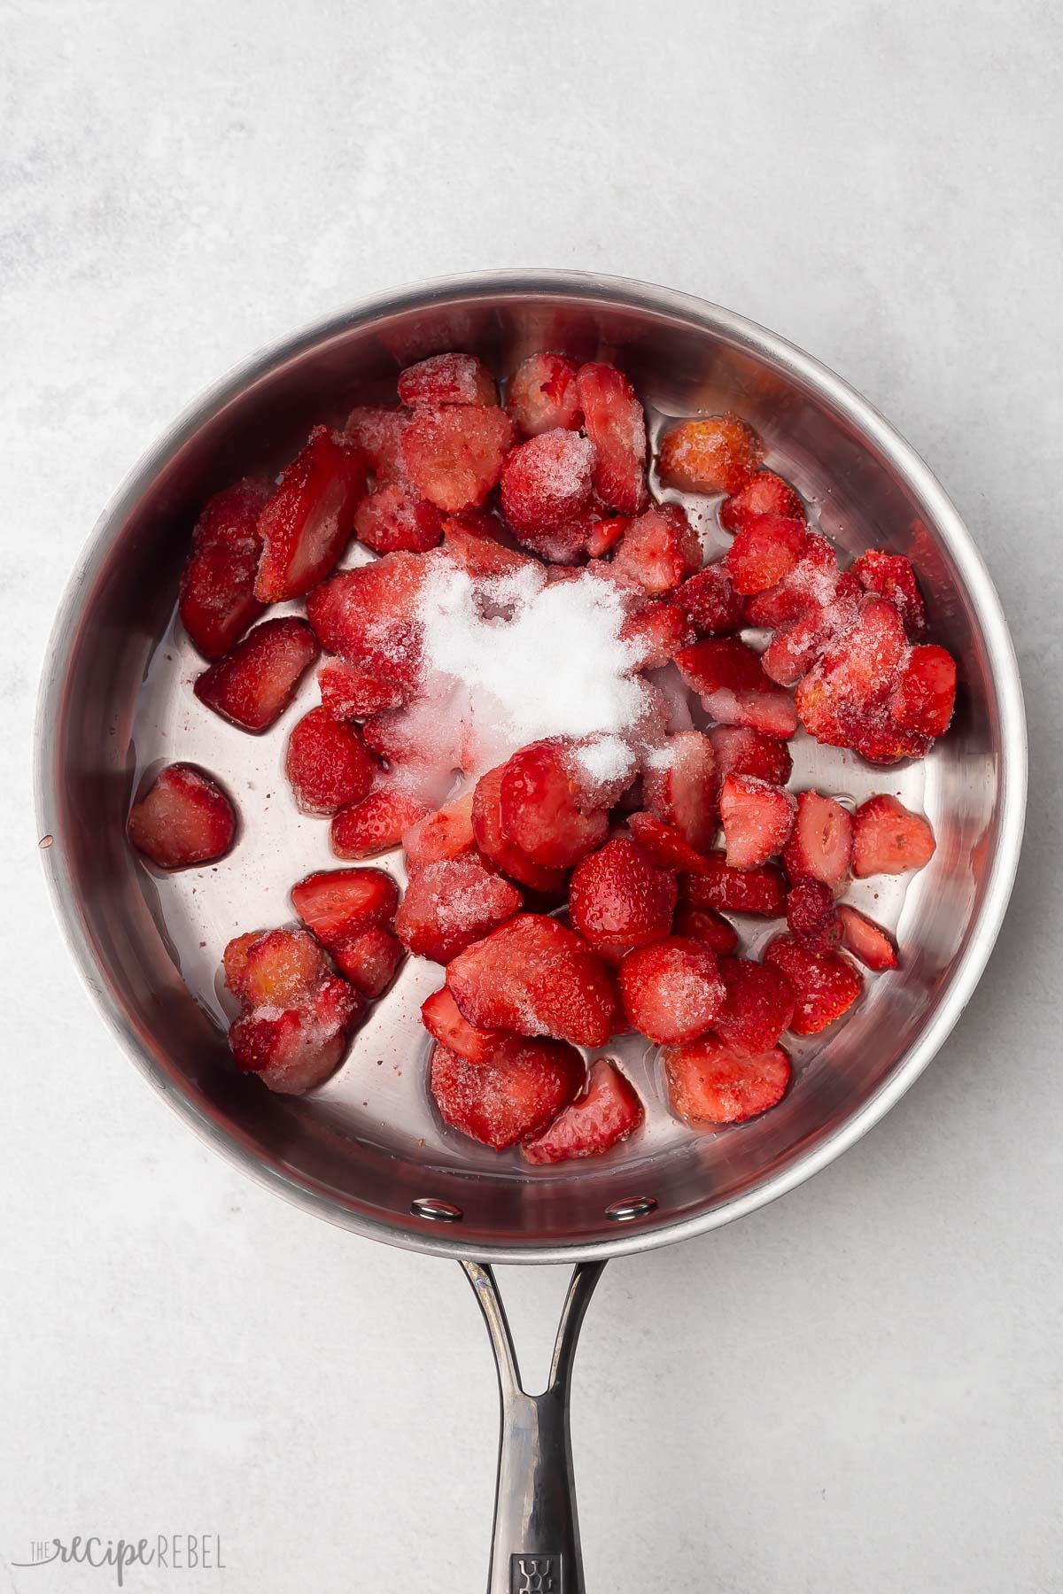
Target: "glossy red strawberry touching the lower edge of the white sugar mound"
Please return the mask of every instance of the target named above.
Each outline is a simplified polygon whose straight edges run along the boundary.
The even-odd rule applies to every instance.
[[[574,760],[563,741],[521,748],[502,771],[502,829],[521,853],[547,869],[571,869],[601,846],[609,832],[604,808],[580,811],[574,776]]]

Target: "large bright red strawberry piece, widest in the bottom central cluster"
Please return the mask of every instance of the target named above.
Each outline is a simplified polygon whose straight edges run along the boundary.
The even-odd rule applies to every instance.
[[[473,942],[446,969],[446,985],[478,1028],[574,1046],[604,1046],[610,1035],[609,974],[579,936],[542,913],[520,913]]]

